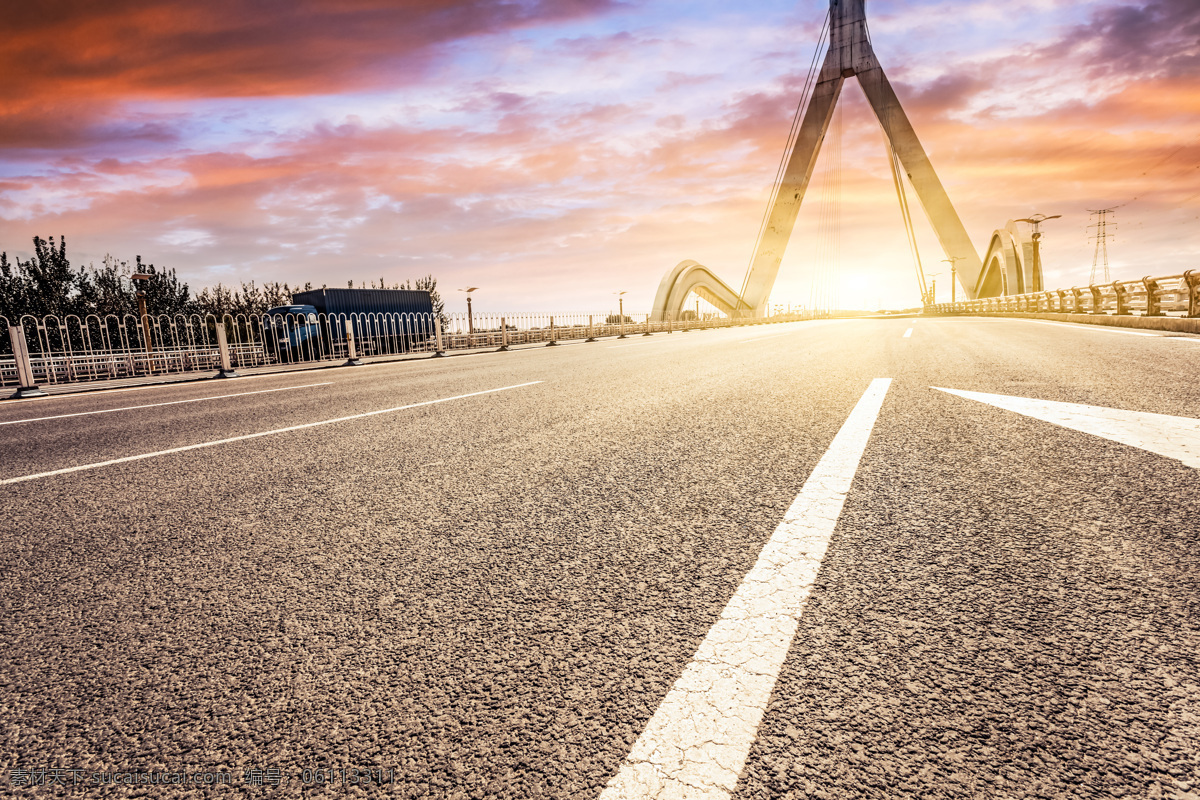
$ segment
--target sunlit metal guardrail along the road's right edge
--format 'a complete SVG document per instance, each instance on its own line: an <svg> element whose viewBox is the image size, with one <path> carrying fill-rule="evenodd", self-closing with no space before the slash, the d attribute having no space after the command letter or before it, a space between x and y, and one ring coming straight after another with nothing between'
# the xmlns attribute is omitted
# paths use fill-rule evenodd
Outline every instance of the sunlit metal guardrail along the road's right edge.
<svg viewBox="0 0 1200 800"><path fill-rule="evenodd" d="M1056 312L1200 317L1200 270L1188 270L1182 275L1158 278L1145 277L1140 281L1114 281L1084 288L936 303L930 309L941 314Z"/></svg>

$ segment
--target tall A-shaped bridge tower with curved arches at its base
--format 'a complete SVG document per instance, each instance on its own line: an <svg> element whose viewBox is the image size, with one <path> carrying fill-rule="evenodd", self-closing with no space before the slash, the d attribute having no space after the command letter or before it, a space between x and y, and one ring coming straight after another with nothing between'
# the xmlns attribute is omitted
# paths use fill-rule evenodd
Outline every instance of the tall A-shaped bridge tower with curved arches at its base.
<svg viewBox="0 0 1200 800"><path fill-rule="evenodd" d="M784 251L791 239L796 216L804 192L812 178L821 143L829 130L838 97L847 78L857 77L868 102L883 127L888 143L912 184L925 215L929 217L947 258L955 260L959 278L970 297L1004 294L1009 283L1040 284L1039 276L1026 275L1027 246L1021 234L998 230L989 248L988 275L984 261L971 243L958 211L950 204L934 166L920 146L908 116L900 107L892 84L888 83L866 31L865 0L830 0L829 49L817 76L812 95L804 110L799 133L787 158L787 166L757 243L745 282L739 295L708 267L696 261L680 261L667 272L654 300L654 317L678 318L689 294L696 294L722 312L736 317L757 317L766 311L770 290L779 275ZM1010 235L1002 235L1002 234ZM1015 241L1013 240L1015 236ZM995 254L992 249L1000 248ZM1008 255L1006 259L1004 255ZM1006 263L1007 261L1007 263ZM985 285L986 284L986 285ZM1013 287L1016 289L1016 285ZM1032 287L1031 287L1032 290Z"/></svg>

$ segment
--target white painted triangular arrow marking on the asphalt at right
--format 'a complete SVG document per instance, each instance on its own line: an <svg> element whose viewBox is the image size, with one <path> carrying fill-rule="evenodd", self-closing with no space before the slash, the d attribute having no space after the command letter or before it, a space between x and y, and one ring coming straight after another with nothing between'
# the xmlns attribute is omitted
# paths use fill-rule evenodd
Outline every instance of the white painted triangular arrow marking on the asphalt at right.
<svg viewBox="0 0 1200 800"><path fill-rule="evenodd" d="M1148 450L1200 469L1200 420L1189 416L1127 411L1103 405L1039 401L1010 395L965 392L938 386L930 389Z"/></svg>

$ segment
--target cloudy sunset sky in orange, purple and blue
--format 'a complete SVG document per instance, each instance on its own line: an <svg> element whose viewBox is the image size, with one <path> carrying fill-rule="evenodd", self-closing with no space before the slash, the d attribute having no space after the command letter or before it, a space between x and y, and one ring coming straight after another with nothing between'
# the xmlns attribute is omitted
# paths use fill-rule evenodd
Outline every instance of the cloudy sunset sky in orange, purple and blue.
<svg viewBox="0 0 1200 800"><path fill-rule="evenodd" d="M0 22L0 249L65 236L222 282L433 275L448 309L649 311L740 285L828 2L44 0ZM1200 269L1200 2L869 0L972 240L1032 213L1049 288ZM878 124L842 91L773 303L919 302ZM839 155L840 154L840 155ZM834 203L836 200L836 203ZM913 209L926 272L948 264ZM1110 228L1111 230L1111 228ZM948 275L938 278L948 299Z"/></svg>

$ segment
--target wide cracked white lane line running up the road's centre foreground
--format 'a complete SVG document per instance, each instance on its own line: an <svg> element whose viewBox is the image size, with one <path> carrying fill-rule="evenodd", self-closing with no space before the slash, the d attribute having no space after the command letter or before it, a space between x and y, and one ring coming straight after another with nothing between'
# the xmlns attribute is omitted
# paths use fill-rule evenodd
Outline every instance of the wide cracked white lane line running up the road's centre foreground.
<svg viewBox="0 0 1200 800"><path fill-rule="evenodd" d="M890 383L871 381L600 800L730 796Z"/></svg>

